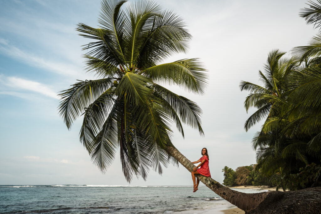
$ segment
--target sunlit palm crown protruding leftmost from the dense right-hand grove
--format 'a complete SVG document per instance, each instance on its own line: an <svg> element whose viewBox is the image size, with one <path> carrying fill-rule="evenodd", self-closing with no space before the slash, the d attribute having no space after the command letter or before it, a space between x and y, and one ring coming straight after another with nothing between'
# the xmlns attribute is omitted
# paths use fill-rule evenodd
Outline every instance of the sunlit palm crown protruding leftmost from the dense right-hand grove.
<svg viewBox="0 0 321 214"><path fill-rule="evenodd" d="M281 99L286 90L284 81L288 74L296 69L298 60L296 58L282 59L285 52L273 50L269 53L267 62L264 66L264 73L259 71L260 80L264 86L251 82L241 81L240 90L248 90L250 94L244 102L246 111L250 107L258 110L252 114L244 124L246 131L262 119L271 119L278 115L279 107L282 105Z"/></svg>

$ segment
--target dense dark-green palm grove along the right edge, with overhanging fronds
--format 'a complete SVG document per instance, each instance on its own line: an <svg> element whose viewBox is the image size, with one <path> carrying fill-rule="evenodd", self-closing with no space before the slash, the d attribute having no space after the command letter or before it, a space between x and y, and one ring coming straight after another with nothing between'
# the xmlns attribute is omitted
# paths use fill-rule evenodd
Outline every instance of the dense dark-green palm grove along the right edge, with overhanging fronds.
<svg viewBox="0 0 321 214"><path fill-rule="evenodd" d="M300 16L320 28L321 1L308 5ZM265 120L252 141L257 169L267 176L280 175L280 185L290 190L320 185L320 176L302 185L291 182L291 176L298 174L300 168L304 171L305 166L319 164L321 159L320 47L318 33L307 46L293 48L289 58L284 57L285 52L273 50L264 71L259 71L263 85L240 83L241 90L250 92L244 102L246 110L257 108L245 122L245 130ZM317 166L315 169L320 174Z"/></svg>

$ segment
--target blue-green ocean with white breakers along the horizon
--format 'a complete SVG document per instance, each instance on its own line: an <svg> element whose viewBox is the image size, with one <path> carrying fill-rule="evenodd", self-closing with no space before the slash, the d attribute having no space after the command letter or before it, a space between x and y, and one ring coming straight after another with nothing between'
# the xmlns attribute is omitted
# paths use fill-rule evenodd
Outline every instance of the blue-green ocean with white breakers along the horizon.
<svg viewBox="0 0 321 214"><path fill-rule="evenodd" d="M0 185L0 214L199 213L229 206L206 186L193 193L193 186Z"/></svg>

